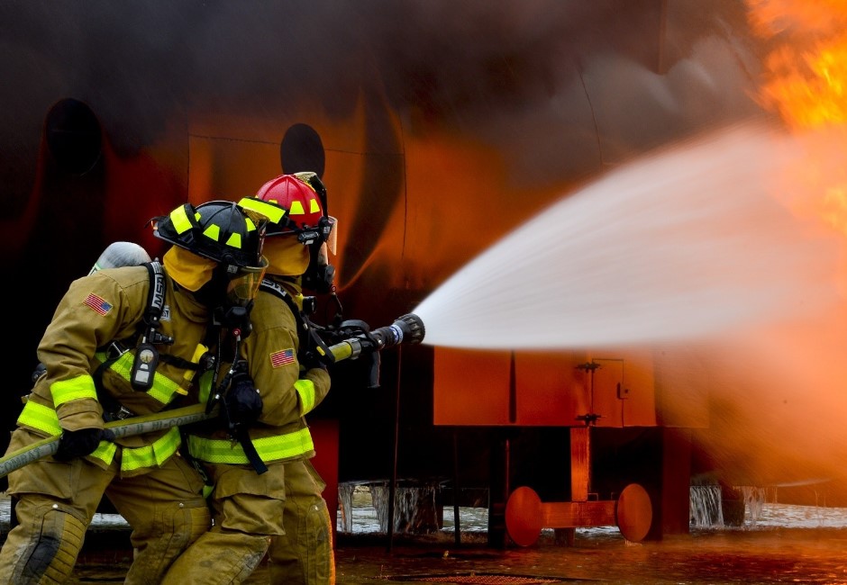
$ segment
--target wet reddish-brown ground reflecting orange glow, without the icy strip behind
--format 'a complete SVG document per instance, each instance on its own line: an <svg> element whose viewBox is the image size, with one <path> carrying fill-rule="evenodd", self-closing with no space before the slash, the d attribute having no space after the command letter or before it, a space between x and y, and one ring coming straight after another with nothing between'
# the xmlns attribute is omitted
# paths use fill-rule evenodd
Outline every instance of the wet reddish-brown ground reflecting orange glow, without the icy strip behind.
<svg viewBox="0 0 847 585"><path fill-rule="evenodd" d="M342 535L337 583L847 583L847 529L764 528L698 531L633 544L621 536L576 536L556 545L498 550L482 536ZM129 558L88 553L72 583L121 582ZM249 583L267 583L262 566Z"/></svg>

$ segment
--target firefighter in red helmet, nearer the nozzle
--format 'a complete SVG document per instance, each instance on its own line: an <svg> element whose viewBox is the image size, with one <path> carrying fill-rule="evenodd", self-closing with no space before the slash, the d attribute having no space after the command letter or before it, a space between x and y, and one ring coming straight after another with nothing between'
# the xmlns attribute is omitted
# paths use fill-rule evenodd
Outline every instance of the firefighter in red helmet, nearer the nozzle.
<svg viewBox="0 0 847 585"><path fill-rule="evenodd" d="M188 438L190 454L214 484L214 527L179 557L165 583L241 583L269 540L270 582L335 581L325 484L309 462L314 445L304 419L329 392L330 376L317 362L298 361L301 280L334 225L312 184L323 186L314 173L281 175L239 202L270 219L263 249L268 271L241 347L245 376L260 390L263 408L246 449L243 442L233 448L232 433L223 429Z"/></svg>

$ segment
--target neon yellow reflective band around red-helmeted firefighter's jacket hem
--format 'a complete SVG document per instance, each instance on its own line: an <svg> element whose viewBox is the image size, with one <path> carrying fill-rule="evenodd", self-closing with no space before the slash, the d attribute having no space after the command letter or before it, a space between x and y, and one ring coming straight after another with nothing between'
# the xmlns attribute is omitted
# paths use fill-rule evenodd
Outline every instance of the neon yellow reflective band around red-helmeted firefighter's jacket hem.
<svg viewBox="0 0 847 585"><path fill-rule="evenodd" d="M294 433L261 437L250 441L261 460L265 463L303 455L314 449L312 434L308 428L301 428ZM250 464L244 448L240 443L229 439L209 439L204 437L188 437L188 452L209 464Z"/></svg>

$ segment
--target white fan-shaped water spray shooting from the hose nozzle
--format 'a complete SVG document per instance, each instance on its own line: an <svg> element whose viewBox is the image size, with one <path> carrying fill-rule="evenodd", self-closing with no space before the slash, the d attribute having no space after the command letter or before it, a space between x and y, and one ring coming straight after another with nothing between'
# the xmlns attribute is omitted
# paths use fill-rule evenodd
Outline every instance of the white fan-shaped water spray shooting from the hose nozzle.
<svg viewBox="0 0 847 585"><path fill-rule="evenodd" d="M751 122L622 166L424 299L423 343L619 347L823 311L837 300L833 239L788 209L806 156Z"/></svg>

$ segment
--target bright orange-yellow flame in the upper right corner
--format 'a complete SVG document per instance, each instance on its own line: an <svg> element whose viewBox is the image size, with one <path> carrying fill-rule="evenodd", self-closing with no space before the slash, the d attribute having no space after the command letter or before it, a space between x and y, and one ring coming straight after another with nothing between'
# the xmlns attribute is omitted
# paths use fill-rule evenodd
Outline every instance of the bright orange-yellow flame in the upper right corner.
<svg viewBox="0 0 847 585"><path fill-rule="evenodd" d="M747 0L747 6L752 31L769 48L758 102L806 140L807 155L793 170L794 209L847 235L840 160L847 149L847 3Z"/></svg>

